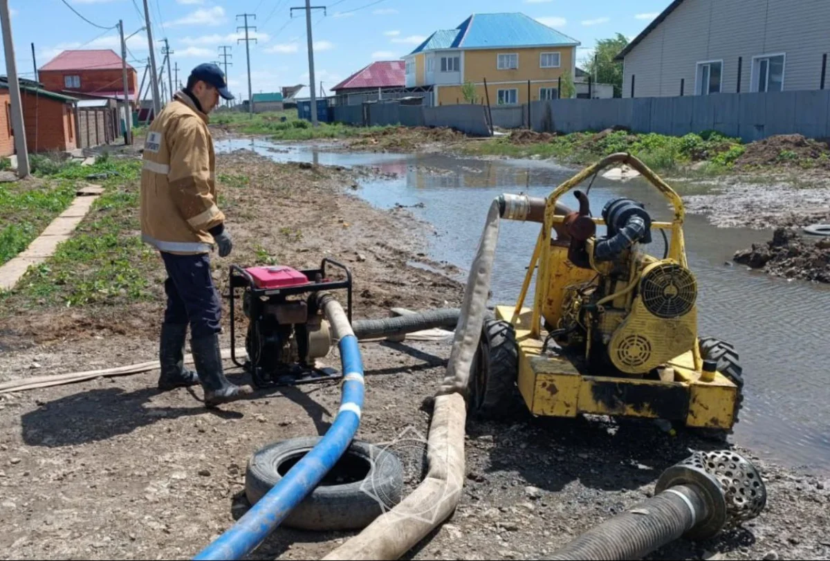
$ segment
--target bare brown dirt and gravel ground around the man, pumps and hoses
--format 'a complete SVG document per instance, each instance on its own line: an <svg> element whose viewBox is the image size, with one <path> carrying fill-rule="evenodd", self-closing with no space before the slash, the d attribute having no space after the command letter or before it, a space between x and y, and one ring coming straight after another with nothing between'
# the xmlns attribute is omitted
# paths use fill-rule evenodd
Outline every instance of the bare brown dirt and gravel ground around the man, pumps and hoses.
<svg viewBox="0 0 830 561"><path fill-rule="evenodd" d="M357 317L382 317L393 305L460 302L456 282L408 266L422 259L423 225L349 196L359 175L249 153L220 156L219 173L237 247L228 259L214 258L220 285L231 262L314 266L332 256L353 267ZM159 271L160 264L148 274L158 281ZM71 312L32 312L10 300L21 307L0 321L0 381L155 359L160 286L156 295ZM227 307L225 319L227 327ZM361 351L367 393L358 437L425 436L428 398L449 345L362 344ZM337 367L337 354L326 363ZM200 389L158 393L157 375L0 397L2 559L190 558L244 512L251 453L325 432L339 406L339 386L329 384L260 393L207 412ZM473 423L461 505L408 559L538 559L652 493L663 469L703 446L652 423ZM410 489L421 476L416 456L403 458ZM758 520L709 543L681 540L652 557L827 559L830 481L758 465L769 490ZM279 529L252 557L316 559L346 537Z"/></svg>

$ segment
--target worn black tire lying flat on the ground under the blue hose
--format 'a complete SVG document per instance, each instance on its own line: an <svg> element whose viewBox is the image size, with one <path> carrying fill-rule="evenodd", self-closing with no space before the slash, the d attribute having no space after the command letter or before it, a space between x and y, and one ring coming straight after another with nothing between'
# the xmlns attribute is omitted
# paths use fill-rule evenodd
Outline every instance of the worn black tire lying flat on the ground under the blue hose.
<svg viewBox="0 0 830 561"><path fill-rule="evenodd" d="M282 480L278 468L299 453L308 452L322 437L300 437L275 442L257 450L248 461L245 494L255 505ZM344 453L369 461L362 481L343 485L318 485L283 520L282 526L314 531L364 529L383 512L397 505L403 495L403 466L392 451L369 442L353 440ZM369 480L368 485L364 481ZM378 500L369 492L383 500Z"/></svg>

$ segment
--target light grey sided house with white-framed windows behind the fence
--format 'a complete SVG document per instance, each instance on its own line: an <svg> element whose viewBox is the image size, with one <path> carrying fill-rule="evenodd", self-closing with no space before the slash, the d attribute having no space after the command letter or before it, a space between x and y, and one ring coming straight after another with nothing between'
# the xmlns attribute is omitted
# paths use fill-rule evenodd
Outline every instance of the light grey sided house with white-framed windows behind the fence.
<svg viewBox="0 0 830 561"><path fill-rule="evenodd" d="M823 89L828 53L830 0L674 0L617 60L623 97L661 97Z"/></svg>

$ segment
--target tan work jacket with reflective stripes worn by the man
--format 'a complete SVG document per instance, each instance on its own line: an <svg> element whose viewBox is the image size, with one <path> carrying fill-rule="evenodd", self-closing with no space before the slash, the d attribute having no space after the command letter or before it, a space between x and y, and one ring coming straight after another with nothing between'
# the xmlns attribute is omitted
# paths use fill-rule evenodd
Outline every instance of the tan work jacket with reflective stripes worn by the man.
<svg viewBox="0 0 830 561"><path fill-rule="evenodd" d="M141 239L160 251L211 251L217 207L216 155L207 115L183 91L150 125L141 172Z"/></svg>

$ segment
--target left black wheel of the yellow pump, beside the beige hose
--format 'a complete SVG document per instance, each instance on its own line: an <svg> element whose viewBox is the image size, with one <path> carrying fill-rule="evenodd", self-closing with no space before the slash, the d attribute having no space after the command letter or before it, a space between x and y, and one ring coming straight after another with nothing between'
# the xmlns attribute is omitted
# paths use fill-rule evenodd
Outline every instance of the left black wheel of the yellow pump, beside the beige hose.
<svg viewBox="0 0 830 561"><path fill-rule="evenodd" d="M470 412L491 419L511 416L519 402L519 345L510 322L485 320L472 369Z"/></svg>

